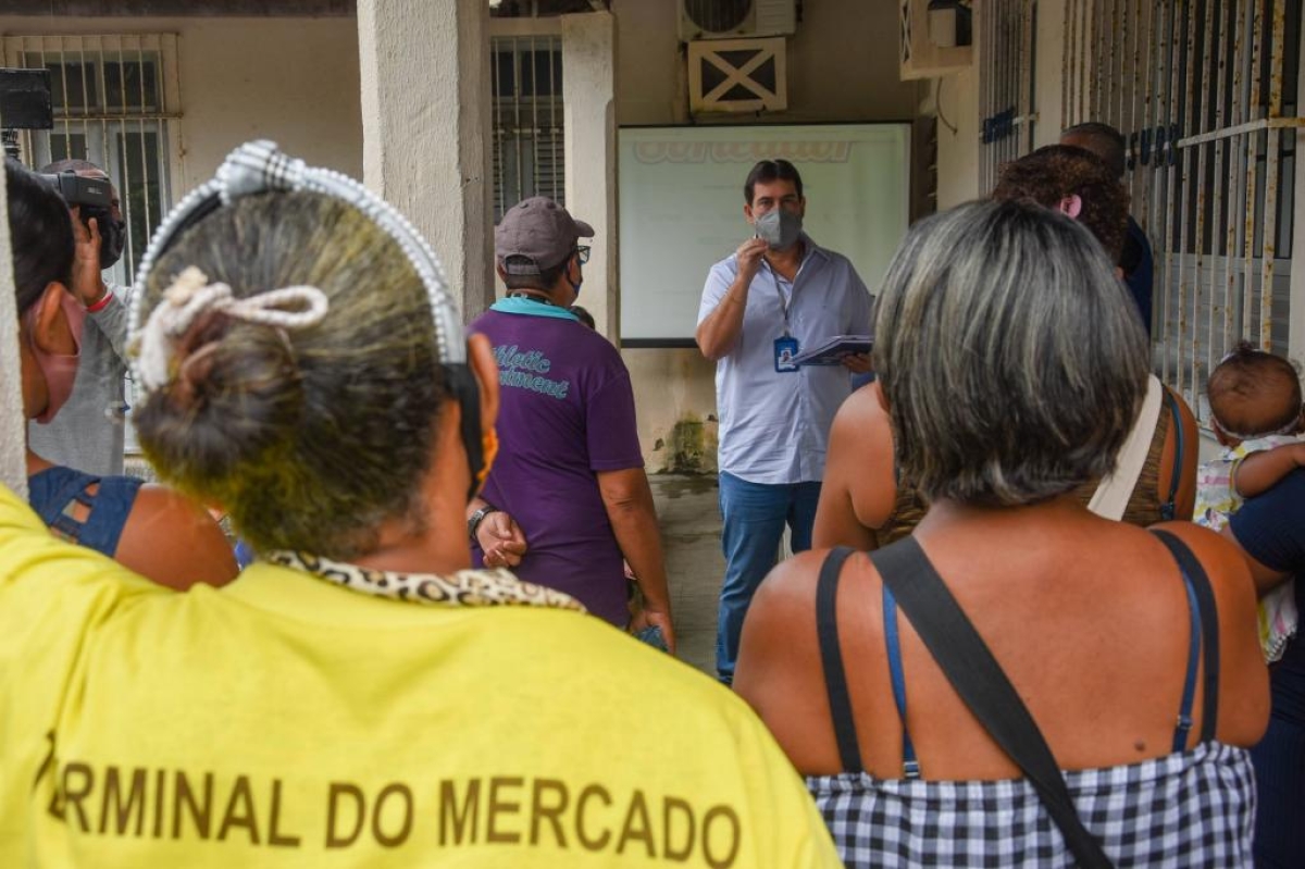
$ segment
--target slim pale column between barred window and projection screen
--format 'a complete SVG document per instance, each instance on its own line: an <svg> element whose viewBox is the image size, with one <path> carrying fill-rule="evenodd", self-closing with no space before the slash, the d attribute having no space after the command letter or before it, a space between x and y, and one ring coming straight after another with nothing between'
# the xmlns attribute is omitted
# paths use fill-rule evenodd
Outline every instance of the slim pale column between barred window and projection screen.
<svg viewBox="0 0 1305 869"><path fill-rule="evenodd" d="M562 16L566 210L592 224L579 304L598 330L620 338L616 240L616 21L609 12Z"/></svg>

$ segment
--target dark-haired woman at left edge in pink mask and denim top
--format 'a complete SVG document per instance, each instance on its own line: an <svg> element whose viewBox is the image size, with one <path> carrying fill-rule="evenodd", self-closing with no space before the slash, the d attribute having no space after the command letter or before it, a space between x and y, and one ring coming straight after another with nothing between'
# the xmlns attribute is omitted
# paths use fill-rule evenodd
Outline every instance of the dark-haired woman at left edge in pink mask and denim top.
<svg viewBox="0 0 1305 869"><path fill-rule="evenodd" d="M52 187L5 160L18 308L22 403L48 423L73 390L85 309L69 292L73 226ZM159 585L222 585L236 562L213 518L176 492L130 476L57 466L27 449L29 502L56 535L116 558Z"/></svg>

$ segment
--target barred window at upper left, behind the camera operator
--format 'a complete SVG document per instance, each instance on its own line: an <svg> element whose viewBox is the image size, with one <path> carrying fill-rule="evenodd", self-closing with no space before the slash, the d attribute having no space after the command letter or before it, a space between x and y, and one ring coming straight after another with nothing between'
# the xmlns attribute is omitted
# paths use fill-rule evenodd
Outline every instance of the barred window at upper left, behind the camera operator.
<svg viewBox="0 0 1305 869"><path fill-rule="evenodd" d="M176 35L7 37L4 60L50 70L55 128L23 137L27 162L39 168L90 160L117 187L127 244L112 278L130 283L172 201L170 121L180 117Z"/></svg>

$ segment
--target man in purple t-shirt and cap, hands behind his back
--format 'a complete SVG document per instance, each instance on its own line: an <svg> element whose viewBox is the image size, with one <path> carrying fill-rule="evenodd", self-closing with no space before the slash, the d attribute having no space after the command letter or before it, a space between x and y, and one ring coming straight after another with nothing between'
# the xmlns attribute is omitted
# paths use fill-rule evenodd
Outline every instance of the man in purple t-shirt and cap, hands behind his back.
<svg viewBox="0 0 1305 869"><path fill-rule="evenodd" d="M513 566L621 628L662 629L675 651L662 539L620 354L574 304L592 227L552 200L513 206L495 230L508 297L471 324L499 360L499 457L467 505L472 557ZM630 624L622 556L645 608Z"/></svg>

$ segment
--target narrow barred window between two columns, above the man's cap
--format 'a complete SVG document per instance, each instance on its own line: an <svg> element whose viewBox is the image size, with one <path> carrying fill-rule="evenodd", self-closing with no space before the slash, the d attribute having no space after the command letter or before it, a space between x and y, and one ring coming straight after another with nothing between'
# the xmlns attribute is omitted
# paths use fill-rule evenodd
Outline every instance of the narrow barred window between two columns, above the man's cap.
<svg viewBox="0 0 1305 869"><path fill-rule="evenodd" d="M493 37L495 222L531 196L565 205L560 37Z"/></svg>

